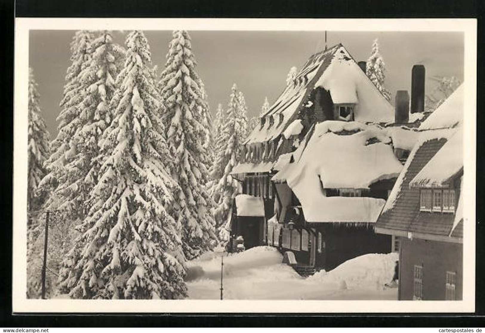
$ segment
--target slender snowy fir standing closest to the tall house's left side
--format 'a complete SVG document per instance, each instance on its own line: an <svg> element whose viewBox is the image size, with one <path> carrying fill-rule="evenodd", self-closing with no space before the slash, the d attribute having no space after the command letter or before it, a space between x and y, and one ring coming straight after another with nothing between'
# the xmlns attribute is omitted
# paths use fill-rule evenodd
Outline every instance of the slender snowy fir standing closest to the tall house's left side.
<svg viewBox="0 0 485 333"><path fill-rule="evenodd" d="M213 214L219 230L227 221L232 200L241 190L239 182L230 175L238 162L239 144L242 140L240 133L242 128L246 126L241 117L240 108L239 93L236 84L234 84L226 111L226 119L218 138L220 149L211 174L212 179L215 179L211 194L217 204Z"/></svg>

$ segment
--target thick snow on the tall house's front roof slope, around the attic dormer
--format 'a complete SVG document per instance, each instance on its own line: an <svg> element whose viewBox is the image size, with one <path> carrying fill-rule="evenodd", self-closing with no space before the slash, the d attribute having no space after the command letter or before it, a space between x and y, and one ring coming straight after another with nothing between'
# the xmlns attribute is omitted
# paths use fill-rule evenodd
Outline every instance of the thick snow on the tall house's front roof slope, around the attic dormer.
<svg viewBox="0 0 485 333"><path fill-rule="evenodd" d="M330 92L334 104L358 103L355 120L391 122L394 110L344 47L315 83Z"/></svg>

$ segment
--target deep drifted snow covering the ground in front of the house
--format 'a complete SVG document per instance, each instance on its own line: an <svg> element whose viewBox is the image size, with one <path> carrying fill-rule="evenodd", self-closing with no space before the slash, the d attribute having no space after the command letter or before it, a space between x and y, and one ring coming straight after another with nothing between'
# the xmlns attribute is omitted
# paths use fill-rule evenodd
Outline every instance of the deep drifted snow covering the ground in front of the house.
<svg viewBox="0 0 485 333"><path fill-rule="evenodd" d="M224 255L224 299L397 300L397 288L384 288L397 254L365 254L308 278L282 264L282 255L272 247ZM206 253L191 261L188 270L190 299L220 298L221 254Z"/></svg>

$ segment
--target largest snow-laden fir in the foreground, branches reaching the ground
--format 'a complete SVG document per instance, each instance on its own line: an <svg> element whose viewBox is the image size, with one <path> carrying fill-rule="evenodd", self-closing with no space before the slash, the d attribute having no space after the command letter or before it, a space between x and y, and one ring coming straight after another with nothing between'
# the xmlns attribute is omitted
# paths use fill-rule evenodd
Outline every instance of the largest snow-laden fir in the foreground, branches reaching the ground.
<svg viewBox="0 0 485 333"><path fill-rule="evenodd" d="M106 158L60 287L71 298L177 299L187 289L173 255L180 238L166 208L178 186L164 164L172 157L146 37L130 32L126 45L110 103L113 121L100 141Z"/></svg>

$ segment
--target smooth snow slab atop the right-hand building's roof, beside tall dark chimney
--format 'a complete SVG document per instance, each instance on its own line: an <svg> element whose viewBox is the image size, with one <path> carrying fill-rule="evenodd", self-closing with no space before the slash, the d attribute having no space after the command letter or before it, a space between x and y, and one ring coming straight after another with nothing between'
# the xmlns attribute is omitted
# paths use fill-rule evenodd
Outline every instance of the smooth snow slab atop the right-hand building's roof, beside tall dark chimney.
<svg viewBox="0 0 485 333"><path fill-rule="evenodd" d="M460 124L464 115L465 86L462 83L419 127L423 129L451 128Z"/></svg>

